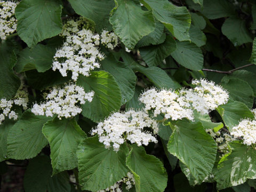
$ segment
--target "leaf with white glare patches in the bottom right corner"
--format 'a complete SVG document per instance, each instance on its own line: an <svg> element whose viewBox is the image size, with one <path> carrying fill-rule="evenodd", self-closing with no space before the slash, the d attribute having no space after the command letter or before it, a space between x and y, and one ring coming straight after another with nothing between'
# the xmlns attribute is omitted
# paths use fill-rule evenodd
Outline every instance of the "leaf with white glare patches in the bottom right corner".
<svg viewBox="0 0 256 192"><path fill-rule="evenodd" d="M214 177L218 189L225 189L244 183L247 179L256 179L256 150L238 141L229 143L231 154L220 159Z"/></svg>

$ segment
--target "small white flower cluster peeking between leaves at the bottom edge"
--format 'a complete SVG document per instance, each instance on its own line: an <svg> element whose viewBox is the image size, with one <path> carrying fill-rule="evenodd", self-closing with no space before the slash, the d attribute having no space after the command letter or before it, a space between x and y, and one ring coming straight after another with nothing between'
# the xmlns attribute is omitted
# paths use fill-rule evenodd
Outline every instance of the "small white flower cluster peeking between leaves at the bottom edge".
<svg viewBox="0 0 256 192"><path fill-rule="evenodd" d="M117 181L113 186L108 187L107 189L104 189L104 190L99 190L97 192L106 192L106 191L109 191L109 192L123 192L122 183L125 183L126 190L131 189L132 186L135 185L135 180L134 180L133 174L131 172L128 172L126 177Z"/></svg>

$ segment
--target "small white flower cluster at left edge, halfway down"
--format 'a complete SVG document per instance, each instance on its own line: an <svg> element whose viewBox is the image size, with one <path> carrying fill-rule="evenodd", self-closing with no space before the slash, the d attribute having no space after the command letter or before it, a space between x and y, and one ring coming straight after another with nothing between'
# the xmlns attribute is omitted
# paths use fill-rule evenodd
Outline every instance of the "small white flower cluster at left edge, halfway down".
<svg viewBox="0 0 256 192"><path fill-rule="evenodd" d="M0 100L0 125L4 121L5 117L9 117L9 119L16 120L18 118L17 113L14 110L11 110L13 104L17 106L22 106L24 110L27 109L28 103L28 93L24 90L18 90L14 99L6 100L5 98Z"/></svg>

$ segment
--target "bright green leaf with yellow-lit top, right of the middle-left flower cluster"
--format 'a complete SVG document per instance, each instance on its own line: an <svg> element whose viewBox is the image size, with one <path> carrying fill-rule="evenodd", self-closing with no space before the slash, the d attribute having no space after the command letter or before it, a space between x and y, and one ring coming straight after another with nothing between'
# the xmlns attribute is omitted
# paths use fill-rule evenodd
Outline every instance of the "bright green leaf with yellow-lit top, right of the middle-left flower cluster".
<svg viewBox="0 0 256 192"><path fill-rule="evenodd" d="M86 91L94 91L92 102L82 105L83 116L97 122L108 116L111 111L121 107L121 91L115 78L106 71L92 71L89 77L79 75L77 84Z"/></svg>

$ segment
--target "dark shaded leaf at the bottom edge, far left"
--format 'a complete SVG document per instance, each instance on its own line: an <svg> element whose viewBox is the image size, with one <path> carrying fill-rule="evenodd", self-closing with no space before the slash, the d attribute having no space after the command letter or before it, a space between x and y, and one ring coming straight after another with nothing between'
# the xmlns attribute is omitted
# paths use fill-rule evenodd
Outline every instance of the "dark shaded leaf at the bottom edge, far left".
<svg viewBox="0 0 256 192"><path fill-rule="evenodd" d="M37 156L29 161L24 175L24 189L26 192L45 192L49 178L51 178L51 161L48 156Z"/></svg>

